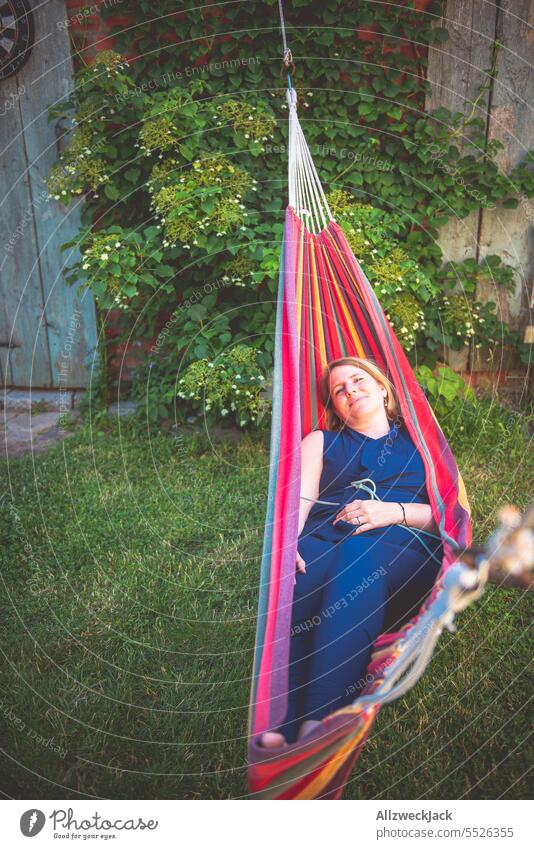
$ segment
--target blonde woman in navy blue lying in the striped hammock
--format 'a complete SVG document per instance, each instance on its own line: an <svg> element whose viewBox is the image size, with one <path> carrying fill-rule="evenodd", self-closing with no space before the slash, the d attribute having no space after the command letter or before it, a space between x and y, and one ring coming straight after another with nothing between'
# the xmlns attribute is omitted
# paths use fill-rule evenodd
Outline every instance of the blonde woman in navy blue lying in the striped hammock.
<svg viewBox="0 0 534 849"><path fill-rule="evenodd" d="M269 748L357 698L374 641L419 610L443 556L423 461L387 377L369 360L334 360L320 399L328 429L302 441L288 711L263 734Z"/></svg>

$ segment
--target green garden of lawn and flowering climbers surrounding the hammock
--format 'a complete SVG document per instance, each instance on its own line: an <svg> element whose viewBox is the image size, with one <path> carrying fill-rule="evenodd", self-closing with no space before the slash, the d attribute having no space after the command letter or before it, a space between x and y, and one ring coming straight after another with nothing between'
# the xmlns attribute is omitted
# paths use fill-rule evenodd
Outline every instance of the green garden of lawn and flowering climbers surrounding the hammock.
<svg viewBox="0 0 534 849"><path fill-rule="evenodd" d="M509 256L449 261L440 234L528 203L534 154L504 173L476 104L427 110L428 47L449 38L440 2L291 6L329 207L449 441L481 546L503 505L531 498L531 346L501 309ZM124 0L100 9L112 46L89 55L90 28L73 35L47 190L65 210L83 200L63 262L95 299L98 344L65 439L3 463L12 797L247 796L287 205L277 14L275 0L162 0L157 16ZM509 364L514 394L497 385ZM531 619L528 592L490 585L381 713L344 798L526 798Z"/></svg>

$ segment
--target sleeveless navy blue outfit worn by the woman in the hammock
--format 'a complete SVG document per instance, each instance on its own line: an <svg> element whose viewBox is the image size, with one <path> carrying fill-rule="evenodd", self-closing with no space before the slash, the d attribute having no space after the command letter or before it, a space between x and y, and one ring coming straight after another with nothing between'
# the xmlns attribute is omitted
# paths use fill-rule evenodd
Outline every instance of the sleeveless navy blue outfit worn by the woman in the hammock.
<svg viewBox="0 0 534 849"><path fill-rule="evenodd" d="M368 683L374 641L415 615L443 555L439 538L401 525L354 536L355 525L332 524L343 505L373 494L382 501L429 503L423 461L407 430L395 423L378 439L348 426L323 434L319 501L298 541L306 574L296 573L281 729L290 742L304 720L322 719L357 698Z"/></svg>

